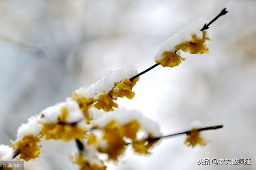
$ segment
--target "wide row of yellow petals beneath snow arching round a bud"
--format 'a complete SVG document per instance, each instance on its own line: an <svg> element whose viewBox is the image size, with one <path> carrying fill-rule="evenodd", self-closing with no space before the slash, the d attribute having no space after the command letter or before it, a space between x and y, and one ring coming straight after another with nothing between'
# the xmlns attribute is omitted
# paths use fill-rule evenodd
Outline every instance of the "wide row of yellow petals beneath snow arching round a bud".
<svg viewBox="0 0 256 170"><path fill-rule="evenodd" d="M87 131L86 129L78 127L76 123L44 123L42 121L38 123L43 125L40 131L40 138L44 137L46 140L62 139L63 141L70 141L71 139L83 139Z"/></svg>

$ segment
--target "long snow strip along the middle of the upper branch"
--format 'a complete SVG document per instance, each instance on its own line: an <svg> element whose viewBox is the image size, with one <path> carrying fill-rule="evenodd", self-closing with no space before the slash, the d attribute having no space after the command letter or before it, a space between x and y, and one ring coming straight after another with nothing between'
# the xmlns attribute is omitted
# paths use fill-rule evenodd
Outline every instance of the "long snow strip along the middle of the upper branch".
<svg viewBox="0 0 256 170"><path fill-rule="evenodd" d="M89 87L82 87L75 92L79 97L98 99L100 94L110 92L115 82L132 78L136 74L138 74L137 68L133 65L128 65L118 70L110 71L94 84L91 84Z"/></svg>

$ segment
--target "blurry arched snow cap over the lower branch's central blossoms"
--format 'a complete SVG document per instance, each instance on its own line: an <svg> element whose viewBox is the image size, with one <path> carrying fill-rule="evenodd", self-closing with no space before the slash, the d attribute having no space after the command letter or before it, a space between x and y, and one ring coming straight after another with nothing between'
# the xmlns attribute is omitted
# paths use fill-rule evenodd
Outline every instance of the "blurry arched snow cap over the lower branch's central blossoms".
<svg viewBox="0 0 256 170"><path fill-rule="evenodd" d="M142 113L133 109L128 110L117 108L111 113L103 114L98 119L96 119L95 125L98 125L99 127L103 128L106 126L107 123L109 123L112 120L115 120L116 122L120 123L120 125L125 125L126 123L129 123L134 119L138 121L140 126L147 133L152 134L155 137L161 136L160 127L156 122L144 117Z"/></svg>

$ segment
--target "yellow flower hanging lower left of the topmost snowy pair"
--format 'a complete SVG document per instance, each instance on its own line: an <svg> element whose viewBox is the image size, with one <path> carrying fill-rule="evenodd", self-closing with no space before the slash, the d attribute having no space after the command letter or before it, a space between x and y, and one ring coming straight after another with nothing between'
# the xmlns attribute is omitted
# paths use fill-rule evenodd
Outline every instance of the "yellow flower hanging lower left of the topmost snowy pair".
<svg viewBox="0 0 256 170"><path fill-rule="evenodd" d="M174 66L178 66L181 61L185 61L185 58L182 58L180 55L177 55L174 52L170 52L170 51L164 51L164 53L162 54L163 57L160 61L156 61L156 64L161 64L163 67L174 67Z"/></svg>

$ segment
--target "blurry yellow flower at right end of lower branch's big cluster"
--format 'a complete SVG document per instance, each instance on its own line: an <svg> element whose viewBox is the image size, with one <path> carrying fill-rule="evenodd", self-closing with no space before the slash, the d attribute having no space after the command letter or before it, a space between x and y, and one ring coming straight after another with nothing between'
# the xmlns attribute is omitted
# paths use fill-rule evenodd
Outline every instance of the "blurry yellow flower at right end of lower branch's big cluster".
<svg viewBox="0 0 256 170"><path fill-rule="evenodd" d="M148 139L133 142L132 147L138 153L149 154L150 152L148 152L148 150L151 149L152 146L159 141L159 139L155 139L152 137L152 135L149 135Z"/></svg>

